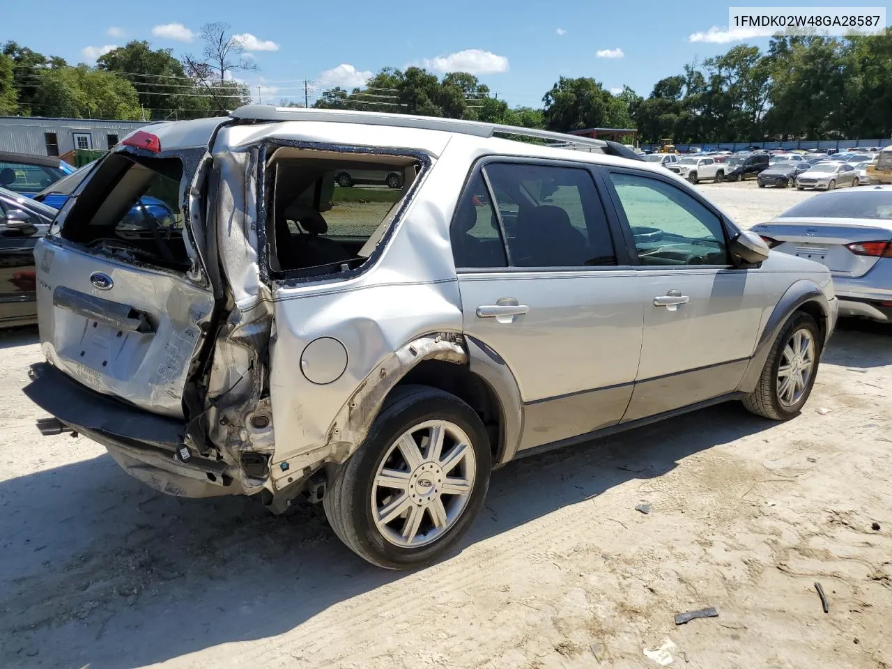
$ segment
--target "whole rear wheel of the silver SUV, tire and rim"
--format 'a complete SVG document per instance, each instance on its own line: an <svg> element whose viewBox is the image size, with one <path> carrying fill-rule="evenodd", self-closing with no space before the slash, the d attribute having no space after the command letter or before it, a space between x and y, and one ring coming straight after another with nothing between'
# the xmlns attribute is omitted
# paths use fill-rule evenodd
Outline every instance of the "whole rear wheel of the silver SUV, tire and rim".
<svg viewBox="0 0 892 669"><path fill-rule="evenodd" d="M441 558L483 507L491 471L480 417L455 395L398 387L341 465L324 506L359 557L387 569Z"/></svg>

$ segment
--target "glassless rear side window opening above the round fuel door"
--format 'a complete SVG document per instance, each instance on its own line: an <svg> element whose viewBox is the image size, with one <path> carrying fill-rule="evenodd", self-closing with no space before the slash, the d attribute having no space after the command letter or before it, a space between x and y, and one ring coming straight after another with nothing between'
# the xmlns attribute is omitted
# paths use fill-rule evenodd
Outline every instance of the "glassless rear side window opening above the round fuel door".
<svg viewBox="0 0 892 669"><path fill-rule="evenodd" d="M419 171L411 156L277 149L266 173L271 276L362 267Z"/></svg>

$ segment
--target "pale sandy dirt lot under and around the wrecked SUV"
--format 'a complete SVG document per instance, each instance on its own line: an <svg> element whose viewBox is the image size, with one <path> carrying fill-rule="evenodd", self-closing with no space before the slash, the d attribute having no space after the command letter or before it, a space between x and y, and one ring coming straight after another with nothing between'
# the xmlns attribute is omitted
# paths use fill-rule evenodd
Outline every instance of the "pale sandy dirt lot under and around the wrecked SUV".
<svg viewBox="0 0 892 669"><path fill-rule="evenodd" d="M804 195L700 187L747 225ZM788 423L729 404L509 464L408 574L320 508L165 497L41 437L38 359L35 330L0 335L0 666L657 667L669 640L690 669L892 667L889 328L841 324Z"/></svg>

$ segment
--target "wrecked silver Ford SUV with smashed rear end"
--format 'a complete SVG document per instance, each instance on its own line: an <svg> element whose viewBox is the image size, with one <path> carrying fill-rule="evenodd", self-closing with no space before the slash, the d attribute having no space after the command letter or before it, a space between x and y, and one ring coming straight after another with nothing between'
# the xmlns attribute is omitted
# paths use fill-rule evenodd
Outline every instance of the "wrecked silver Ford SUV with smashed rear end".
<svg viewBox="0 0 892 669"><path fill-rule="evenodd" d="M795 416L829 270L625 155L347 111L149 126L37 247L25 392L160 491L322 500L390 568L455 544L512 458L720 401ZM401 189L335 187L357 169ZM172 224L124 225L146 196Z"/></svg>

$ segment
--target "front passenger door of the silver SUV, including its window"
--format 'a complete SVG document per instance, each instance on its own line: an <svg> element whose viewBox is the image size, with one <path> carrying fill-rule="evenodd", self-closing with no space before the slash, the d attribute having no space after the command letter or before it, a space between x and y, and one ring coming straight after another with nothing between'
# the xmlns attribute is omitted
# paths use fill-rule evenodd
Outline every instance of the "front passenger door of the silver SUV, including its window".
<svg viewBox="0 0 892 669"><path fill-rule="evenodd" d="M637 253L644 335L624 422L734 391L762 318L758 269L731 266L721 217L667 178L609 169Z"/></svg>

